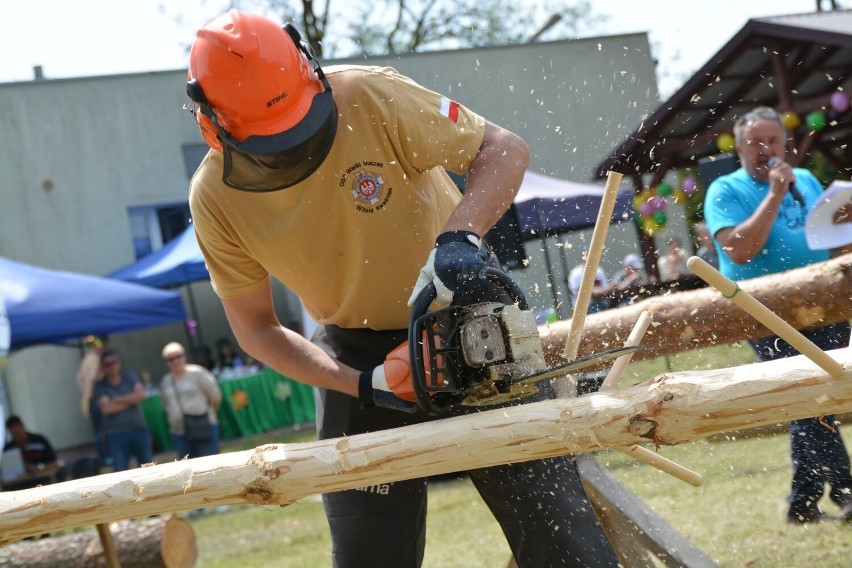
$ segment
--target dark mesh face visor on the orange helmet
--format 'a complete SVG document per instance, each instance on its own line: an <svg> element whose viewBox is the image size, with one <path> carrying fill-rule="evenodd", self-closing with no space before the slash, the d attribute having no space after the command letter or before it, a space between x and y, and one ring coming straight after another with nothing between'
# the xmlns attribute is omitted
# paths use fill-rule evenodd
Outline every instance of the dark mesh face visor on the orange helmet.
<svg viewBox="0 0 852 568"><path fill-rule="evenodd" d="M217 125L218 126L218 125ZM337 132L331 90L316 95L299 123L279 134L239 142L219 128L225 168L222 181L242 191L278 191L314 173L328 156Z"/></svg>

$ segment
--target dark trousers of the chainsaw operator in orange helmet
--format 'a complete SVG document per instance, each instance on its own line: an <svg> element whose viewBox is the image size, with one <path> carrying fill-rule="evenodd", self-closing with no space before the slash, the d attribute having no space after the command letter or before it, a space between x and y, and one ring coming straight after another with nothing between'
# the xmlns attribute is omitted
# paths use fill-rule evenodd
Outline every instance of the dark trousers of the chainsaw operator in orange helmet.
<svg viewBox="0 0 852 568"><path fill-rule="evenodd" d="M313 341L356 369L372 369L407 339L406 330L318 328ZM548 396L542 393L541 399ZM529 401L530 399L526 399ZM476 412L477 410L472 410ZM395 428L432 417L383 408L319 390L321 439ZM503 529L521 568L617 566L570 456L468 471ZM323 495L336 568L418 567L426 544L426 480ZM475 545L475 543L471 543Z"/></svg>

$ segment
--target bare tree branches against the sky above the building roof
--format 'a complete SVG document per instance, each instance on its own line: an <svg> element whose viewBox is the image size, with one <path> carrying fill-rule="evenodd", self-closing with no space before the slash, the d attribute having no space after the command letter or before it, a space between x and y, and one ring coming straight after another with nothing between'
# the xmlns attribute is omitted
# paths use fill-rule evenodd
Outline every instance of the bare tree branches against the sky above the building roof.
<svg viewBox="0 0 852 568"><path fill-rule="evenodd" d="M234 0L231 5L294 22L314 52L325 57L576 37L601 21L587 0L346 0L334 5L331 0Z"/></svg>

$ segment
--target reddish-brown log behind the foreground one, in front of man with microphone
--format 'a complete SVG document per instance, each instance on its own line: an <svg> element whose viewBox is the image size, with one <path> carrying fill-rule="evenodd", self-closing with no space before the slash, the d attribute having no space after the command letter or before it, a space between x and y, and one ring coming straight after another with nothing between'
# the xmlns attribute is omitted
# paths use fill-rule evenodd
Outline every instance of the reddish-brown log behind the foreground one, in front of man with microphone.
<svg viewBox="0 0 852 568"><path fill-rule="evenodd" d="M740 288L798 330L852 318L852 254L819 264L740 282ZM771 332L726 300L714 288L654 296L630 306L586 316L578 357L620 347L639 314L653 324L636 359L648 359L718 344L731 344ZM546 357L562 362L571 322L540 328Z"/></svg>

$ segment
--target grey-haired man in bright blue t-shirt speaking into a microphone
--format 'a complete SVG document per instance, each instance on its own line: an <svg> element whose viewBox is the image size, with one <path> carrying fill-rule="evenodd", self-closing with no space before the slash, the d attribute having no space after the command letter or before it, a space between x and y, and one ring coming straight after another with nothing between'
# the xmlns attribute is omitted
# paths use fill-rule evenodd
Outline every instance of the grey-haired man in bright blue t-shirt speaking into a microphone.
<svg viewBox="0 0 852 568"><path fill-rule="evenodd" d="M811 250L805 239L805 217L822 185L808 170L784 161L787 132L780 115L758 107L737 119L734 138L742 167L714 180L704 200L719 271L746 280L828 260L829 251ZM850 328L843 322L803 333L821 349L837 349L848 345ZM798 355L776 336L750 343L761 361ZM825 417L825 423L833 421ZM790 434L793 482L787 520L823 518L817 503L828 483L831 500L852 521L852 476L840 431L808 418L793 421Z"/></svg>

